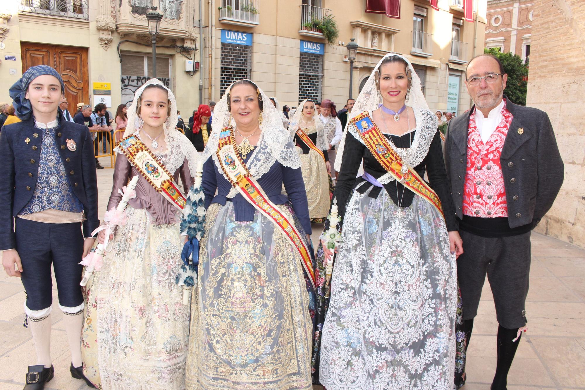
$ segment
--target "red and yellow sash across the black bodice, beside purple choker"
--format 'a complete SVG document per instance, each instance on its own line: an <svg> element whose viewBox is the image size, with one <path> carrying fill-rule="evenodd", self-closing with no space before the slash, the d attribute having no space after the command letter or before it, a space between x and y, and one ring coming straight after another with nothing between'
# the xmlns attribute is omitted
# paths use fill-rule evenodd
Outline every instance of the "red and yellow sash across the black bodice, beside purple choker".
<svg viewBox="0 0 585 390"><path fill-rule="evenodd" d="M407 189L431 203L442 217L445 218L441 200L439 200L435 191L422 180L417 171L412 169L412 167L408 167L407 172L402 175L401 170L402 166L404 166L402 159L394 152L394 149L388 143L388 139L382 135L378 126L371 120L370 115L367 112L362 112L362 114L353 118L350 123L356 126L362 141L366 144L366 147L374 155L376 160L378 160L378 163L390 172L394 176L394 179L407 187Z"/></svg>

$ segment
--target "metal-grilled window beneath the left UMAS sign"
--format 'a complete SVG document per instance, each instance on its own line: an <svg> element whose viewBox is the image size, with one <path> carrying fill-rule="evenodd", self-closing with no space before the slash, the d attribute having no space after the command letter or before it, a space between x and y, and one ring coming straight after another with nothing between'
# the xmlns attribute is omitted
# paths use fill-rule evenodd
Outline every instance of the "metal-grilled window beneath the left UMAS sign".
<svg viewBox="0 0 585 390"><path fill-rule="evenodd" d="M235 81L250 78L252 46L221 44L220 95Z"/></svg>

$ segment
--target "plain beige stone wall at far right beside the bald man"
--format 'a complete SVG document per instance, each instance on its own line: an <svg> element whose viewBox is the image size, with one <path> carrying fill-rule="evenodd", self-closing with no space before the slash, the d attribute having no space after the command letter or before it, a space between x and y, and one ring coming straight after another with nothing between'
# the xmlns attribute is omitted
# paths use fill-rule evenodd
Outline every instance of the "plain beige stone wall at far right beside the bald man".
<svg viewBox="0 0 585 390"><path fill-rule="evenodd" d="M585 2L535 1L526 105L548 113L565 182L536 231L585 247Z"/></svg>

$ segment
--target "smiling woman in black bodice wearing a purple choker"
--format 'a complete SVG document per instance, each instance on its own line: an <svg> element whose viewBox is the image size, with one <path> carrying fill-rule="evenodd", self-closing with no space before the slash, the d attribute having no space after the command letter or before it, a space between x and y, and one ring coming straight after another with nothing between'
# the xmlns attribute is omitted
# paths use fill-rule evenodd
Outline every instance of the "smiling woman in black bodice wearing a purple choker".
<svg viewBox="0 0 585 390"><path fill-rule="evenodd" d="M318 368L328 390L453 388L463 249L437 125L411 63L388 53L335 162L342 238Z"/></svg>

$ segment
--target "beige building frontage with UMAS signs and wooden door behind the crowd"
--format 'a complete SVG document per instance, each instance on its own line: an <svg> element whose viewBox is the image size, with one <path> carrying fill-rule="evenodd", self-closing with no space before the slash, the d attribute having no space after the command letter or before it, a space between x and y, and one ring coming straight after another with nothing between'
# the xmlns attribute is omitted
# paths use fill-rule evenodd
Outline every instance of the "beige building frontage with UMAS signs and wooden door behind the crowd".
<svg viewBox="0 0 585 390"><path fill-rule="evenodd" d="M339 110L349 96L345 45L352 37L359 45L354 98L393 51L414 64L431 110L459 114L471 104L463 72L484 47L486 1L474 1L472 23L463 21L460 0L439 0L439 11L426 0L402 0L400 19L364 12L366 0L4 0L0 101L9 101L23 70L47 63L66 75L72 114L81 101L115 111L152 76L145 15L157 6L164 14L157 77L176 94L184 118L245 77L281 104L329 98ZM311 26L328 16L338 28L332 43Z"/></svg>

